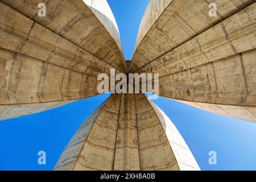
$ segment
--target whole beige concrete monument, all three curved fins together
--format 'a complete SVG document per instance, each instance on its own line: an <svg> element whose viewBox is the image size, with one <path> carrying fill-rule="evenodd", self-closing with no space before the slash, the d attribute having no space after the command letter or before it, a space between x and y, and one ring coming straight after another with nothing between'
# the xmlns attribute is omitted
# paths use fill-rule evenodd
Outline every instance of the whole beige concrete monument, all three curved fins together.
<svg viewBox="0 0 256 182"><path fill-rule="evenodd" d="M151 0L128 64L106 0L0 0L0 10L0 120L96 96L98 75L115 69L158 73L160 96L256 122L255 0ZM198 169L170 119L143 94L113 94L55 166Z"/></svg>

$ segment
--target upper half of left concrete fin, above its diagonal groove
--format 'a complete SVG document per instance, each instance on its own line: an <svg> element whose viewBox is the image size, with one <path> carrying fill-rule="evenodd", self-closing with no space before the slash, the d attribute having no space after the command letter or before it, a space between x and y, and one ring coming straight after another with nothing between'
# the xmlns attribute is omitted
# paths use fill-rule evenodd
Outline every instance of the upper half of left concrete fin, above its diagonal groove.
<svg viewBox="0 0 256 182"><path fill-rule="evenodd" d="M127 72L117 24L106 0L44 0L46 17L37 15L40 0L0 2L119 71Z"/></svg>

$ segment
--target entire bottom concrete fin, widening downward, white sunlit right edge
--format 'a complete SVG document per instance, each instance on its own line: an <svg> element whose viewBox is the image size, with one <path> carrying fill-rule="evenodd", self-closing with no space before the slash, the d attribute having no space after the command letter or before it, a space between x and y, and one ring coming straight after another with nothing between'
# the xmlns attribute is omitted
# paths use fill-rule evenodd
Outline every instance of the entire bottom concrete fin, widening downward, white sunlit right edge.
<svg viewBox="0 0 256 182"><path fill-rule="evenodd" d="M170 119L143 94L114 94L80 127L55 170L199 170Z"/></svg>

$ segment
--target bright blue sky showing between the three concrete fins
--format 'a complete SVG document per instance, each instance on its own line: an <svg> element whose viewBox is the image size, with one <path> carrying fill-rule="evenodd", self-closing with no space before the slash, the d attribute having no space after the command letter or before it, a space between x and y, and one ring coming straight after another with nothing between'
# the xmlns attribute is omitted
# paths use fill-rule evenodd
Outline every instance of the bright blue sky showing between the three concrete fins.
<svg viewBox="0 0 256 182"><path fill-rule="evenodd" d="M109 0L130 60L139 24L149 0ZM0 170L51 170L72 135L97 106L103 94L57 109L0 121ZM154 101L174 122L202 170L255 170L256 124L208 113L159 97ZM47 164L38 164L38 151L46 151ZM209 151L217 152L217 165L209 165Z"/></svg>

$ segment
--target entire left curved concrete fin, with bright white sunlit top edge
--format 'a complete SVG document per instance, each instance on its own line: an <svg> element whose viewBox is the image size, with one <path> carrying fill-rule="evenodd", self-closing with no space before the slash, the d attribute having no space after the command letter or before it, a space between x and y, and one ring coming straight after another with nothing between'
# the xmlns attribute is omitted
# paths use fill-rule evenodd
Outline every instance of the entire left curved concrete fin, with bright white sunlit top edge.
<svg viewBox="0 0 256 182"><path fill-rule="evenodd" d="M3 0L0 10L0 119L95 96L99 73L126 72L106 1Z"/></svg>

